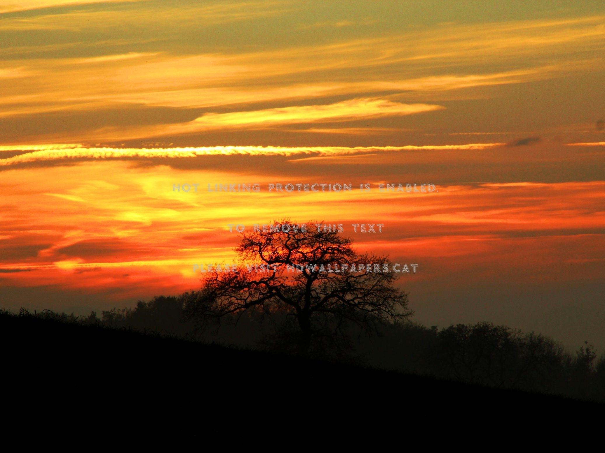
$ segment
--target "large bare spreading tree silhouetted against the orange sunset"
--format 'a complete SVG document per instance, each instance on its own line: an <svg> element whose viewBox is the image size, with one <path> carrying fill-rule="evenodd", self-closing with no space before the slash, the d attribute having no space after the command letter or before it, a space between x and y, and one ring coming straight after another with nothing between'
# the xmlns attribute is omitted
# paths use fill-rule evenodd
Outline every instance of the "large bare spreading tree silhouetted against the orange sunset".
<svg viewBox="0 0 605 453"><path fill-rule="evenodd" d="M274 225L291 223L283 219ZM208 272L200 291L183 295L188 315L203 321L249 310L287 313L296 320L301 353L318 341L342 335L345 325L372 330L381 322L411 315L407 294L394 286L398 274L382 272L383 263L390 266L387 256L360 254L352 240L313 225L306 231L243 233L235 249L238 265ZM374 272L374 264L381 272ZM364 265L361 271L359 265Z"/></svg>

